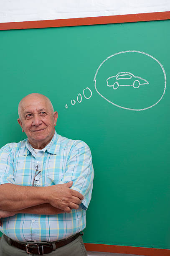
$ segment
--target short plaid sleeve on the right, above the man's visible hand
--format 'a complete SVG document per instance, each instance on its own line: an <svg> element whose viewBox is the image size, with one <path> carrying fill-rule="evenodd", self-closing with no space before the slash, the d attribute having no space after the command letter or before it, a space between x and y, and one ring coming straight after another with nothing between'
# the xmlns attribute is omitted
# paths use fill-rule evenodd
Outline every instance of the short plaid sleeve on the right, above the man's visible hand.
<svg viewBox="0 0 170 256"><path fill-rule="evenodd" d="M70 151L66 172L59 184L73 181L71 189L80 192L84 196L81 208L87 210L93 189L94 169L89 146L83 141L79 141Z"/></svg>

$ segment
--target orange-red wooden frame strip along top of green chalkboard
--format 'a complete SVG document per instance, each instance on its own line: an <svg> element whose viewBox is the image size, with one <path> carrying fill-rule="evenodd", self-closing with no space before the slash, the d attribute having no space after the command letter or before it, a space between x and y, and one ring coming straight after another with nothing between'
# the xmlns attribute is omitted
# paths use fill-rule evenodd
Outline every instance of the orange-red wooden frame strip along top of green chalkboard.
<svg viewBox="0 0 170 256"><path fill-rule="evenodd" d="M0 30L86 26L86 25L150 21L150 20L170 20L170 11L157 12L157 13L137 13L137 14L112 15L112 16L87 17L87 18L58 19L58 20L5 22L5 23L0 23Z"/></svg>

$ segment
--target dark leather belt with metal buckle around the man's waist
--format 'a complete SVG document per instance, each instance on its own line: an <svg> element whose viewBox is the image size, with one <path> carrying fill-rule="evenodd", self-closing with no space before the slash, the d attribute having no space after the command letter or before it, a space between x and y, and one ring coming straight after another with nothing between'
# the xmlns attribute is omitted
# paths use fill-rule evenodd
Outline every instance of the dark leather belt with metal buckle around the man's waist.
<svg viewBox="0 0 170 256"><path fill-rule="evenodd" d="M68 243L71 243L74 241L78 236L80 236L80 232L77 233L75 236L63 239L61 241L55 241L52 243L47 243L47 242L28 242L27 244L24 243L18 243L16 241L13 241L11 238L8 238L10 241L10 244L26 251L28 254L47 254L51 253L52 251L55 251L57 248L60 248L61 246L65 246Z"/></svg>

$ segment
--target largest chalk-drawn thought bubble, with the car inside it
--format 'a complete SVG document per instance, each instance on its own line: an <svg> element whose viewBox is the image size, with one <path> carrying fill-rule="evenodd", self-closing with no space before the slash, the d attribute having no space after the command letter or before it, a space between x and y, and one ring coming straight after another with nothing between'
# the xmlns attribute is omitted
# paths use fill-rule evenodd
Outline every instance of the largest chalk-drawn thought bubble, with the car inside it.
<svg viewBox="0 0 170 256"><path fill-rule="evenodd" d="M162 100L166 73L160 61L150 54L121 51L99 65L94 87L112 105L126 110L147 110Z"/></svg>

